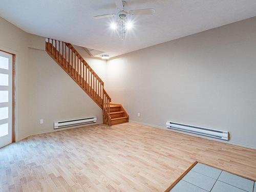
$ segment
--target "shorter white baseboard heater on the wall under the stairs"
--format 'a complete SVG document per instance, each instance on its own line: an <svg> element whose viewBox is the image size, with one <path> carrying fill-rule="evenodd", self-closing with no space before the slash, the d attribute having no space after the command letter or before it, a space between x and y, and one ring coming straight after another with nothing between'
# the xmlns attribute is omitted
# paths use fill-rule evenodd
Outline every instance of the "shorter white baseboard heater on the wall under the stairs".
<svg viewBox="0 0 256 192"><path fill-rule="evenodd" d="M82 119L72 119L72 120L65 120L65 121L58 121L53 123L54 129L59 129L62 127L67 126L76 126L76 125L82 125L82 124L88 124L88 123L96 123L97 117L87 117Z"/></svg>

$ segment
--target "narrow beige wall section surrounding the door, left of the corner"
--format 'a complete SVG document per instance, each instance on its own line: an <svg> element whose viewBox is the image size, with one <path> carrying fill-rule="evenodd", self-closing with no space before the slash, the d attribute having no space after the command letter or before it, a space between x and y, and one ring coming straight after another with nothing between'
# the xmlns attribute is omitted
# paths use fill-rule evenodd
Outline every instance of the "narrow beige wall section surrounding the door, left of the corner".
<svg viewBox="0 0 256 192"><path fill-rule="evenodd" d="M16 138L28 130L28 35L0 17L0 50L16 54Z"/></svg>

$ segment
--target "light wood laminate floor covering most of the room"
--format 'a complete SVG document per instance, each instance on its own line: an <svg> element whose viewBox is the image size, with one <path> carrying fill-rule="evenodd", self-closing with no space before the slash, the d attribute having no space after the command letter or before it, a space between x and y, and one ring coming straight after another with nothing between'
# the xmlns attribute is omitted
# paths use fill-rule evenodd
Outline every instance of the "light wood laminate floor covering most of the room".
<svg viewBox="0 0 256 192"><path fill-rule="evenodd" d="M256 179L256 150L135 123L31 136L0 149L0 191L164 191L200 161Z"/></svg>

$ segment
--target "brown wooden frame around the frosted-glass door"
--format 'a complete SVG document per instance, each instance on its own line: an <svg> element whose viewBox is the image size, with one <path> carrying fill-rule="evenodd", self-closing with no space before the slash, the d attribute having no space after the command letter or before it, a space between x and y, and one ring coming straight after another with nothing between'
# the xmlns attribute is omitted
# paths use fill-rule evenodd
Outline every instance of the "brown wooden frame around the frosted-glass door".
<svg viewBox="0 0 256 192"><path fill-rule="evenodd" d="M16 55L8 51L1 50L2 52L12 55L12 143L16 142Z"/></svg>

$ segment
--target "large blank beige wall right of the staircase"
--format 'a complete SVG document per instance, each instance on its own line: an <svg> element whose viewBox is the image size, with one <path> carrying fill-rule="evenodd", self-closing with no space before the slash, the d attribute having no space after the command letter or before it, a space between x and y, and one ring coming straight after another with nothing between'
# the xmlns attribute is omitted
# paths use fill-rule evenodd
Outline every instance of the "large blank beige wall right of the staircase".
<svg viewBox="0 0 256 192"><path fill-rule="evenodd" d="M111 59L107 75L130 120L226 130L256 147L256 17Z"/></svg>

